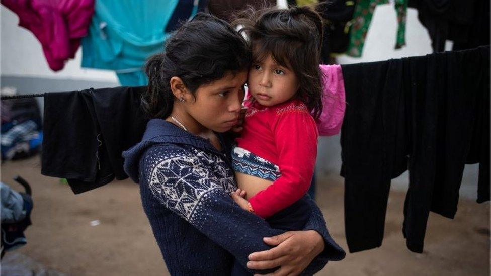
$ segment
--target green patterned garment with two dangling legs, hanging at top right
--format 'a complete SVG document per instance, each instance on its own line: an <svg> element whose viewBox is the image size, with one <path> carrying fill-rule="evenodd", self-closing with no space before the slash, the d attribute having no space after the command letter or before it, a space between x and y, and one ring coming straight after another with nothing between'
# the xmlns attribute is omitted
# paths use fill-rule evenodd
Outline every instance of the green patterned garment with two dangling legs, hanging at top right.
<svg viewBox="0 0 491 276"><path fill-rule="evenodd" d="M395 0L395 11L397 13L397 38L395 49L399 49L406 44L406 13L408 0ZM365 44L370 22L372 21L375 7L379 4L388 4L389 0L360 0L356 4L353 19L348 22L347 27L351 27L350 44L347 54L354 57L360 57Z"/></svg>

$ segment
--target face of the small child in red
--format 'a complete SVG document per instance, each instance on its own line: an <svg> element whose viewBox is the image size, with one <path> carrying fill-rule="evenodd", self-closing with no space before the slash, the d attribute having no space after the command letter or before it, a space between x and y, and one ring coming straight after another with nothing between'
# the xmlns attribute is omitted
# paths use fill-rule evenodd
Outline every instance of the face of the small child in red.
<svg viewBox="0 0 491 276"><path fill-rule="evenodd" d="M254 62L249 70L249 93L263 106L270 107L292 99L298 86L295 73L274 62L271 54Z"/></svg>

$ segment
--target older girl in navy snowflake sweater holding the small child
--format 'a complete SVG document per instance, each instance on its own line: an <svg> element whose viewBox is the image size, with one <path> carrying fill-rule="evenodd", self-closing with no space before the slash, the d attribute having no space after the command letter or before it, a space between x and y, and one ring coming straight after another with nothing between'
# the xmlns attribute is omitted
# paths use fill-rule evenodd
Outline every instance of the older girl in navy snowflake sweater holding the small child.
<svg viewBox="0 0 491 276"><path fill-rule="evenodd" d="M229 197L237 186L221 133L237 123L249 65L242 36L205 14L185 23L168 38L166 52L148 61L143 103L153 119L123 156L173 275L227 275L234 259L252 269L280 265L279 275L313 274L328 259L344 257L312 201L303 231L283 233Z"/></svg>

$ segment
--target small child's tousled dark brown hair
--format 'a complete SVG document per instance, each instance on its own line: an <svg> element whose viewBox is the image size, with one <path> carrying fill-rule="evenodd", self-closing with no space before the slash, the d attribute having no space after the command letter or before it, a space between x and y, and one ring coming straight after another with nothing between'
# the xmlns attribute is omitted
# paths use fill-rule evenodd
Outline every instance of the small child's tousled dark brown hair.
<svg viewBox="0 0 491 276"><path fill-rule="evenodd" d="M269 53L275 62L293 70L299 80L296 97L318 118L322 112L320 48L322 19L308 6L255 10L252 7L235 15L232 26L245 33L253 53L260 61Z"/></svg>

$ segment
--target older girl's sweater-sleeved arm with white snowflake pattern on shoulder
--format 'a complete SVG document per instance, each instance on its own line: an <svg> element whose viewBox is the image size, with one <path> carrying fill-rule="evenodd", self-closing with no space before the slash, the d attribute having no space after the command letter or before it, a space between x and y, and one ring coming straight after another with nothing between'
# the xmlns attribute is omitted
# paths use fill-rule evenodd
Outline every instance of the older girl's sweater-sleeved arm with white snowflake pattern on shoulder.
<svg viewBox="0 0 491 276"><path fill-rule="evenodd" d="M168 151L169 146L161 150ZM172 150L176 152L172 158L155 162L155 156L146 155L143 159L144 167L149 169L142 185L149 185L156 202L230 252L244 267L249 254L271 249L263 237L283 231L270 228L266 221L236 205L225 191L228 184L210 173L209 160L201 160L182 148ZM233 176L227 180L233 181ZM325 224L321 225L317 216L312 218L310 225L322 233Z"/></svg>

